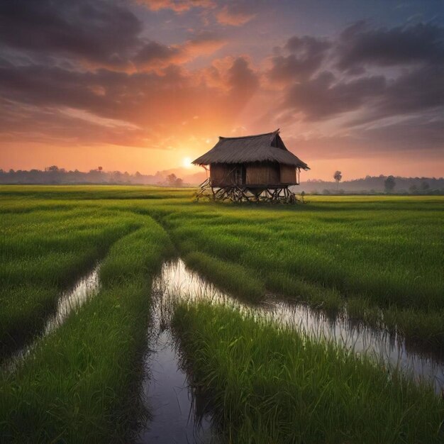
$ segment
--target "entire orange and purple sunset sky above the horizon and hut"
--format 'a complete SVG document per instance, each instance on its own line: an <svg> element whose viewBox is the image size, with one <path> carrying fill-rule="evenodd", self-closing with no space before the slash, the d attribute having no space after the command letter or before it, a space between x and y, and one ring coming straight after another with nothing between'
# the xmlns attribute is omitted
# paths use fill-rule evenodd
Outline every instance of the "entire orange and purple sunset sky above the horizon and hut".
<svg viewBox="0 0 444 444"><path fill-rule="evenodd" d="M442 177L444 1L0 1L3 170L191 173L277 128L302 180Z"/></svg>

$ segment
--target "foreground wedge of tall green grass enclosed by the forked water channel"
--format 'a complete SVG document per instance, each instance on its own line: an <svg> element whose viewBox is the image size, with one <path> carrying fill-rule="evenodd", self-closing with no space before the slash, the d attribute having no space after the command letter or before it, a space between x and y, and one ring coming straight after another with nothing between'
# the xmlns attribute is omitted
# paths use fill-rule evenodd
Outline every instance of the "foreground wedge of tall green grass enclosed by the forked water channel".
<svg viewBox="0 0 444 444"><path fill-rule="evenodd" d="M184 367L230 443L440 443L443 401L333 343L225 306L177 307Z"/></svg>

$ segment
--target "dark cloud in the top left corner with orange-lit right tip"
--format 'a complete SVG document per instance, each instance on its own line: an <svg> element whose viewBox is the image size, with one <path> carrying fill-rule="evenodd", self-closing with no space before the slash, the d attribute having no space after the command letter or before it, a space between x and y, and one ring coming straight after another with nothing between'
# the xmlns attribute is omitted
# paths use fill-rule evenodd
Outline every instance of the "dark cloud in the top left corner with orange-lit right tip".
<svg viewBox="0 0 444 444"><path fill-rule="evenodd" d="M146 40L143 22L118 5L104 0L2 2L0 38L9 48L32 55L30 62L60 65L64 57L74 67L126 71L188 62L226 43L209 32L177 45Z"/></svg>

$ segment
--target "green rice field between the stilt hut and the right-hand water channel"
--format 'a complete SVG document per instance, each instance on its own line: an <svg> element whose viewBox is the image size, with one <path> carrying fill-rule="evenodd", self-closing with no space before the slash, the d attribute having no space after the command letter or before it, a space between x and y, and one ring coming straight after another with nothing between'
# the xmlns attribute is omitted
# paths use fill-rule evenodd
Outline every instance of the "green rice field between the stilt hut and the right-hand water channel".
<svg viewBox="0 0 444 444"><path fill-rule="evenodd" d="M331 314L353 299L353 316L373 326L390 312L384 325L442 349L442 204L441 197L321 196L287 208L177 203L155 211L183 254L245 267L267 290L296 292ZM433 322L416 328L411 310Z"/></svg>

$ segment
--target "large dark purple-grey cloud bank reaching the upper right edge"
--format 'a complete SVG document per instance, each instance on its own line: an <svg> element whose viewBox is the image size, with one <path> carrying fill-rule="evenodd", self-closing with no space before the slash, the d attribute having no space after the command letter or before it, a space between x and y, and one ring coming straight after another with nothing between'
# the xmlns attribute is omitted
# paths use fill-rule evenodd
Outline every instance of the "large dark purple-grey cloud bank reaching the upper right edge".
<svg viewBox="0 0 444 444"><path fill-rule="evenodd" d="M295 50L300 48L301 41L293 40ZM292 39L287 47L292 47L291 42ZM296 82L285 90L284 106L302 113L306 120L360 110L360 117L348 123L355 125L444 106L444 28L419 24L371 30L363 22L356 23L345 29L331 47L332 57L338 60L331 66L334 75L316 75L329 47L313 41L310 45L305 52L316 55L318 62L309 64L311 70L305 71L306 77L298 77L304 69L297 64L287 64L287 71L282 67L278 70L276 57L273 67L281 76L285 73L291 77L293 73ZM387 67L401 71L387 74L382 71ZM379 70L380 74L370 76L364 68Z"/></svg>

